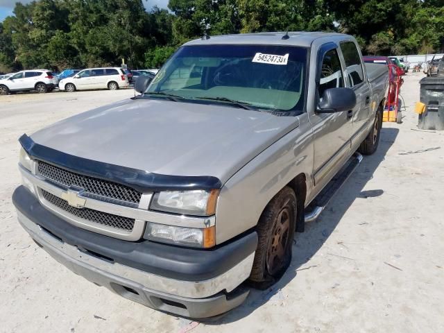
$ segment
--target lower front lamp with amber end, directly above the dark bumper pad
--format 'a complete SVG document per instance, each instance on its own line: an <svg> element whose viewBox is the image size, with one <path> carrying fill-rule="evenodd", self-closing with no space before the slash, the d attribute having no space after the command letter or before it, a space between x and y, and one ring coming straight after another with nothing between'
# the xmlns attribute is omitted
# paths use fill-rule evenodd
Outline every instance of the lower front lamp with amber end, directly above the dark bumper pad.
<svg viewBox="0 0 444 333"><path fill-rule="evenodd" d="M210 228L183 228L174 225L148 223L145 237L162 243L211 248L216 244L214 225Z"/></svg>

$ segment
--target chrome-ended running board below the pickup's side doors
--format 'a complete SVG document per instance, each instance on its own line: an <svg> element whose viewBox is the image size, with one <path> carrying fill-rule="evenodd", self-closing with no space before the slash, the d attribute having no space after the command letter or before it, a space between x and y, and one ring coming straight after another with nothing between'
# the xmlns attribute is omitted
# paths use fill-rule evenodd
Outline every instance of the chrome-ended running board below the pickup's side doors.
<svg viewBox="0 0 444 333"><path fill-rule="evenodd" d="M355 171L358 165L362 161L362 155L358 152L354 153L345 166L337 173L332 180L324 187L324 189L314 198L313 201L305 209L305 222L314 221L327 207L330 200L333 198L345 181L348 180L350 175Z"/></svg>

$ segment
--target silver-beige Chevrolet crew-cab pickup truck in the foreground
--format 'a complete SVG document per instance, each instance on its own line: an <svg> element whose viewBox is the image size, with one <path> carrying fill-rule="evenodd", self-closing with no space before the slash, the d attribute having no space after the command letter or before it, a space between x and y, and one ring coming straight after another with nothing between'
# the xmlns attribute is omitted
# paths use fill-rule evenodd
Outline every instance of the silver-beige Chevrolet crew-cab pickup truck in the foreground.
<svg viewBox="0 0 444 333"><path fill-rule="evenodd" d="M350 35L188 42L134 99L19 139L19 223L123 297L223 314L282 276L318 195L375 152L387 89Z"/></svg>

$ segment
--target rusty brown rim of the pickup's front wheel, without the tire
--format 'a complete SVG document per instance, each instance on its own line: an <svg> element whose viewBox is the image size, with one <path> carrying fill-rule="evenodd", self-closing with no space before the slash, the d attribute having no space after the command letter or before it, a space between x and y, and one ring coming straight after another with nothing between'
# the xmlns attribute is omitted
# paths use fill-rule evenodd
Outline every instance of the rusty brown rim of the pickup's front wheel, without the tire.
<svg viewBox="0 0 444 333"><path fill-rule="evenodd" d="M266 266L271 275L280 271L284 265L289 240L290 216L289 207L283 207L273 224L273 233L266 253Z"/></svg>

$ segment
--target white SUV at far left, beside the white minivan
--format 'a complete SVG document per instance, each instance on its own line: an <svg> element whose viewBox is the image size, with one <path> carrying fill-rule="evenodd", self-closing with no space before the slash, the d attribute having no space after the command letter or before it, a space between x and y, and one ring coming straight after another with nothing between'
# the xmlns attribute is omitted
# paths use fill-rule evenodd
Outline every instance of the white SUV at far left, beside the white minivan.
<svg viewBox="0 0 444 333"><path fill-rule="evenodd" d="M0 80L0 95L29 90L36 90L40 93L51 92L57 85L58 78L48 69L19 71L8 78Z"/></svg>

